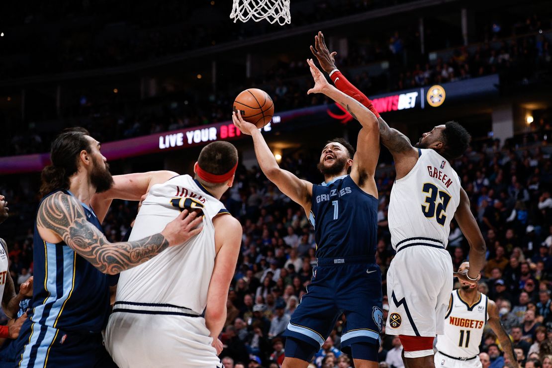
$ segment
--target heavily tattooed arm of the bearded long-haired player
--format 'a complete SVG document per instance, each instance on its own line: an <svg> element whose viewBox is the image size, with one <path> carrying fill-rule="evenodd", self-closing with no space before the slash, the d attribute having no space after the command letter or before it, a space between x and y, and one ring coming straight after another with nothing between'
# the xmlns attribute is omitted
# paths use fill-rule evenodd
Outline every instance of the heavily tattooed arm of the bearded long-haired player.
<svg viewBox="0 0 552 368"><path fill-rule="evenodd" d="M176 210L176 209L175 209ZM161 233L132 242L110 243L86 219L75 198L62 192L46 198L36 215L36 226L46 242L64 241L105 274L118 274L146 262L164 249L182 244L201 231L195 212L184 210Z"/></svg>

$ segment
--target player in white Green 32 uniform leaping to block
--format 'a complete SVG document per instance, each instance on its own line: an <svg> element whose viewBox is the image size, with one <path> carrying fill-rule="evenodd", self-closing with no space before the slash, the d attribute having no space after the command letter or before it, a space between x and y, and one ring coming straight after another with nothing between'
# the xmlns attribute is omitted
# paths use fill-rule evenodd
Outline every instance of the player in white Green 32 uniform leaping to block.
<svg viewBox="0 0 552 368"><path fill-rule="evenodd" d="M470 267L455 275L476 287L485 262L485 241L470 210L468 195L450 160L469 146L470 135L457 122L424 133L413 147L391 129L371 101L335 66L321 32L312 53L336 87L367 106L379 121L381 143L395 161L396 180L389 204L389 231L397 255L387 274L390 298L386 333L399 335L408 368L432 367L433 339L443 333L453 285L452 260L445 249L454 217L470 244Z"/></svg>

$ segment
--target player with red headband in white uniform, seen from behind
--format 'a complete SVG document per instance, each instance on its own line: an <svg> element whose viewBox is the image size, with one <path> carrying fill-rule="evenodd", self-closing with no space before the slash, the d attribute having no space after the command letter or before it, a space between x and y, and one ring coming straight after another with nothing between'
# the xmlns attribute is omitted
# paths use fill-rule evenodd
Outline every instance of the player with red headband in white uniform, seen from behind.
<svg viewBox="0 0 552 368"><path fill-rule="evenodd" d="M231 143L213 142L201 150L195 178L172 172L121 175L99 200L137 200L148 191L130 240L157 232L181 211L203 215L201 232L184 246L120 274L105 333L119 367L222 367L218 336L242 228L220 198L232 186L237 159Z"/></svg>

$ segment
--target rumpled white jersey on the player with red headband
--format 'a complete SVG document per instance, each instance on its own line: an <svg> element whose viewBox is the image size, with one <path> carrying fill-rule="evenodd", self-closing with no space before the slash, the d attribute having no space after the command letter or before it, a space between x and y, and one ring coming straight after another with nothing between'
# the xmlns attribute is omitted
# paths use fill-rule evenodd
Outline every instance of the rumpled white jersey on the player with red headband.
<svg viewBox="0 0 552 368"><path fill-rule="evenodd" d="M221 201L190 175L152 185L129 241L161 232L185 207L201 207L203 230L183 246L167 248L147 262L121 272L116 301L169 304L203 313L216 257L213 218L226 211Z"/></svg>

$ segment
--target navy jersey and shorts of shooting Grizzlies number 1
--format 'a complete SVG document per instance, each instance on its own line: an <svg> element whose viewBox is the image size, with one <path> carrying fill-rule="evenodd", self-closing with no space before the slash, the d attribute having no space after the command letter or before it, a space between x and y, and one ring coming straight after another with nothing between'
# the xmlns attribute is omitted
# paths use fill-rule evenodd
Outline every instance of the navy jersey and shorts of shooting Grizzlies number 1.
<svg viewBox="0 0 552 368"><path fill-rule="evenodd" d="M286 336L320 348L344 313L342 349L357 342L379 348L383 311L381 271L375 264L377 217L378 200L349 175L312 185L310 221L318 264Z"/></svg>

